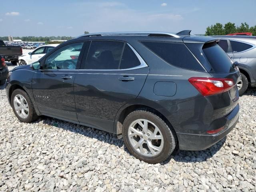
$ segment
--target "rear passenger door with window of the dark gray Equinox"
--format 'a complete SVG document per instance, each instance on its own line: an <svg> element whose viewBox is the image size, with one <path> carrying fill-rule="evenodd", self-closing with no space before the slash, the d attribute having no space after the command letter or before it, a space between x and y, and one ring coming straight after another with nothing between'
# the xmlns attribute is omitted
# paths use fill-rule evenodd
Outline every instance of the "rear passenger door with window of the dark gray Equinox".
<svg viewBox="0 0 256 192"><path fill-rule="evenodd" d="M149 67L129 44L90 42L74 81L78 121L113 132L117 111L138 96L148 72Z"/></svg>

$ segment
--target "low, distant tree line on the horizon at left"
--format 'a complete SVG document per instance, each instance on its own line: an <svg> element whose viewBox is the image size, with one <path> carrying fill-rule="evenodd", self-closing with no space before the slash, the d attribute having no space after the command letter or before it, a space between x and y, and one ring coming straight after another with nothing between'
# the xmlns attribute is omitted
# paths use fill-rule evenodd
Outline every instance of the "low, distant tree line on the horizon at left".
<svg viewBox="0 0 256 192"><path fill-rule="evenodd" d="M13 39L21 39L22 41L32 41L32 42L39 42L39 41L51 41L51 40L70 40L74 37L71 36L50 36L50 37L35 37L35 36L25 36L25 37L13 37ZM0 37L0 40L8 41L8 36Z"/></svg>

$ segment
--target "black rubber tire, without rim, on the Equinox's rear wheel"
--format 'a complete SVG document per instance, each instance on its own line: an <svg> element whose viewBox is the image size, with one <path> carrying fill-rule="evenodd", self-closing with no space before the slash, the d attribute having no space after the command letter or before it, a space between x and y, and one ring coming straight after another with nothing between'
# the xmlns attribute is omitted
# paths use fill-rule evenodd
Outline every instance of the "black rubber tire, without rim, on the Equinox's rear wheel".
<svg viewBox="0 0 256 192"><path fill-rule="evenodd" d="M162 148L162 151L156 156L149 157L140 154L140 152L136 151L130 143L130 140L128 138L128 128L130 124L132 124L132 122L138 119L146 119L151 121L162 132L162 136L164 138L164 146ZM165 122L163 118L161 118L159 115L148 109L138 109L134 112L131 112L124 120L122 126L122 135L124 139L124 144L128 148L129 152L136 158L151 164L160 163L166 160L170 156L170 154L172 154L178 142L178 138L172 126Z"/></svg>

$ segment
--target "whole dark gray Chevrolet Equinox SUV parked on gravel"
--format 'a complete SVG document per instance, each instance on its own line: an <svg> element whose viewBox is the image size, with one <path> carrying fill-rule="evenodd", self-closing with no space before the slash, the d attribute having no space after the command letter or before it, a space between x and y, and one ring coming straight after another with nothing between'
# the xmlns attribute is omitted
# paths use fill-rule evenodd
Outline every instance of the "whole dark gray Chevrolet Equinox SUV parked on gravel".
<svg viewBox="0 0 256 192"><path fill-rule="evenodd" d="M22 122L46 115L90 126L123 137L136 158L162 162L176 147L209 148L238 122L240 73L217 40L84 34L12 70L6 93Z"/></svg>

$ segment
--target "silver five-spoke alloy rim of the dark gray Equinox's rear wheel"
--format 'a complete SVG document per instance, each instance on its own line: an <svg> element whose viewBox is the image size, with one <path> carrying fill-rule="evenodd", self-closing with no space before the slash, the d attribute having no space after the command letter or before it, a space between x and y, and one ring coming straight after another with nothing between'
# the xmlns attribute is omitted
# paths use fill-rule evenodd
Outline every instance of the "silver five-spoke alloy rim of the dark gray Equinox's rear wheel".
<svg viewBox="0 0 256 192"><path fill-rule="evenodd" d="M164 146L161 131L153 122L146 119L138 119L130 124L128 138L134 150L144 156L156 156Z"/></svg>

